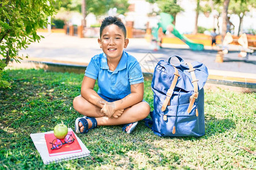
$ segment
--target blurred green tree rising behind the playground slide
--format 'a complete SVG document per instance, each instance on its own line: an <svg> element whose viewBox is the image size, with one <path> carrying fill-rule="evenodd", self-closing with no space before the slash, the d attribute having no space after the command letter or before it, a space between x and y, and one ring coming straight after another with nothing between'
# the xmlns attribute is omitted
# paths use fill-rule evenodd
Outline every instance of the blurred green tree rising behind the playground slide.
<svg viewBox="0 0 256 170"><path fill-rule="evenodd" d="M161 12L166 12L167 14L171 14L172 16L174 16L174 22L173 24L175 25L176 22L176 15L181 12L184 11L183 8L181 8L179 5L177 5L177 1L176 0L147 0L150 3L158 3L158 6L161 10Z"/></svg>

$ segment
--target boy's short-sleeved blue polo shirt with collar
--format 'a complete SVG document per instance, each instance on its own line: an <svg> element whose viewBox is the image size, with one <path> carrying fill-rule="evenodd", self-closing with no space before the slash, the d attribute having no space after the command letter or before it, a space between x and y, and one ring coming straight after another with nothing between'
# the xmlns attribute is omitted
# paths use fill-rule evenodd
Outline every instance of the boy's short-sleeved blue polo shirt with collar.
<svg viewBox="0 0 256 170"><path fill-rule="evenodd" d="M123 52L114 71L109 70L105 53L94 56L85 70L85 76L98 79L98 94L110 99L123 99L131 93L130 85L144 82L137 59Z"/></svg>

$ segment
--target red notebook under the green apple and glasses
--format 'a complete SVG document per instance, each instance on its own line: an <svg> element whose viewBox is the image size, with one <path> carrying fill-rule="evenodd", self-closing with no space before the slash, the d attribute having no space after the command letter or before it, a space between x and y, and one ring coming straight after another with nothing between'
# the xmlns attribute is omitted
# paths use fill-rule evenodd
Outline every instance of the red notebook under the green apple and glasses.
<svg viewBox="0 0 256 170"><path fill-rule="evenodd" d="M71 134L72 137L75 139L75 141L71 144L65 144L61 146L59 149L53 149L52 142L54 139L56 139L55 135L53 133L44 134L44 138L46 138L46 145L48 148L49 156L56 156L56 155L64 155L64 154L71 154L75 152L81 152L81 146L79 145L79 142L77 141L76 135L73 133L73 131L69 131L68 134ZM60 139L61 142L64 143L64 139Z"/></svg>

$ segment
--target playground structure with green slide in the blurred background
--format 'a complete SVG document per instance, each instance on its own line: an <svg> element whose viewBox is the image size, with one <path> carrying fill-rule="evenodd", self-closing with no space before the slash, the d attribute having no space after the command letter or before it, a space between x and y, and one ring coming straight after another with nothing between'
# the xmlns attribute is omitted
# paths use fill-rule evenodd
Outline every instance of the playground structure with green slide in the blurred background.
<svg viewBox="0 0 256 170"><path fill-rule="evenodd" d="M167 31L171 32L173 35L175 35L177 38L179 38L181 41L185 42L192 50L204 50L203 44L195 43L191 40L189 40L187 37L182 35L177 29L175 28L175 25L172 24L174 18L172 15L167 13L160 13L160 22L158 23L158 28L152 28L152 36L154 37L154 41L161 41L161 35L159 36L159 29L162 29L163 33L166 33Z"/></svg>

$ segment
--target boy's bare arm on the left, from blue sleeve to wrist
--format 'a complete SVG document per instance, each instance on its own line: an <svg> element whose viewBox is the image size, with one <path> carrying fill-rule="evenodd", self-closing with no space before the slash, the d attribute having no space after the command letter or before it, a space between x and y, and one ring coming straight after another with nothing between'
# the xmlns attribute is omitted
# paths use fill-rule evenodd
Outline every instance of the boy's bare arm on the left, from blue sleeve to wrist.
<svg viewBox="0 0 256 170"><path fill-rule="evenodd" d="M102 108L106 103L106 100L102 99L97 92L93 90L95 82L95 79L84 76L81 86L81 95L90 103Z"/></svg>

